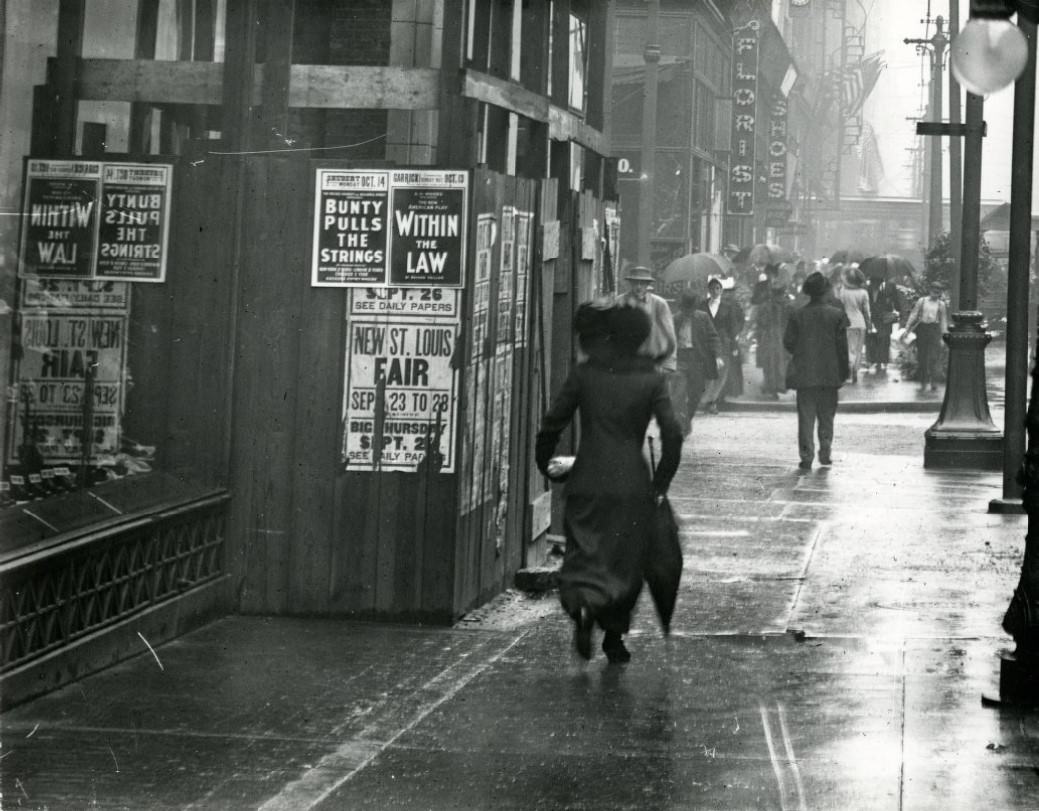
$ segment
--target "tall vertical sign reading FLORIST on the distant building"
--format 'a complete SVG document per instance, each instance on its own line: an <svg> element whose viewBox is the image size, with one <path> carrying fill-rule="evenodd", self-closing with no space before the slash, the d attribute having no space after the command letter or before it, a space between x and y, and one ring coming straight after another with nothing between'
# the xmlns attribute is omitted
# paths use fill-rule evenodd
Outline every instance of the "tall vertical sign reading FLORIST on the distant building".
<svg viewBox="0 0 1039 811"><path fill-rule="evenodd" d="M757 115L758 20L740 28L732 39L732 138L726 212L754 213L754 133Z"/></svg>

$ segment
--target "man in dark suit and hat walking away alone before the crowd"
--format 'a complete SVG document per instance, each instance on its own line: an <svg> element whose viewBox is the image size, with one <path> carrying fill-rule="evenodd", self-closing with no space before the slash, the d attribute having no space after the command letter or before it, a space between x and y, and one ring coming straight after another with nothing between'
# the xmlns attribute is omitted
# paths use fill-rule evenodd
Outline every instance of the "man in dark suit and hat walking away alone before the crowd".
<svg viewBox="0 0 1039 811"><path fill-rule="evenodd" d="M783 347L793 355L787 367L787 387L797 389L798 465L810 470L816 447L812 433L819 423L819 463L831 464L833 417L837 389L848 379L848 316L826 301L830 283L811 273L802 291L807 304L794 312L783 331Z"/></svg>

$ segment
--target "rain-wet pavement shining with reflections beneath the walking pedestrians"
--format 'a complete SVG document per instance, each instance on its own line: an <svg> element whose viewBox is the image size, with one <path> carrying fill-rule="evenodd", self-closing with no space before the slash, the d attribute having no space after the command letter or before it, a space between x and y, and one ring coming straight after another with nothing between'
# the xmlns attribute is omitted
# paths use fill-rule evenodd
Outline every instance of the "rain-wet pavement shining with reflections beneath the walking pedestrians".
<svg viewBox="0 0 1039 811"><path fill-rule="evenodd" d="M4 808L1034 809L1039 715L986 707L1025 518L931 471L933 415L697 417L674 632L570 651L553 594L453 628L236 616L3 717Z"/></svg>

